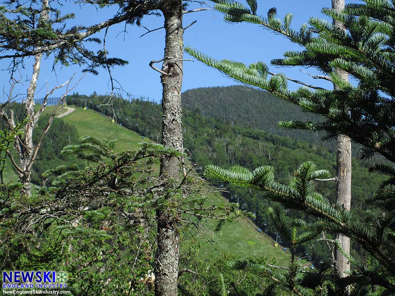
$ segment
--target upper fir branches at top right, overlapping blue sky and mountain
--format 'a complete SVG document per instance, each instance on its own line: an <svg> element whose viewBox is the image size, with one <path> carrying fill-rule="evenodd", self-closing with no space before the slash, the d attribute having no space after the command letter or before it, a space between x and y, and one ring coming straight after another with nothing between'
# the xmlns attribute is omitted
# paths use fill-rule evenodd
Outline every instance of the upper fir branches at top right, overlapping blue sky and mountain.
<svg viewBox="0 0 395 296"><path fill-rule="evenodd" d="M216 61L192 48L187 48L191 55L240 82L267 90L285 101L299 105L304 111L321 114L327 118L323 122L309 122L305 125L300 122L287 123L286 127L326 131L327 138L333 138L338 134L349 135L365 146L362 149L365 157L377 152L391 161L395 160L389 148L390 143L394 141L389 109L391 100L379 92L380 90L389 96L392 95L392 86L388 82L391 79L388 75L393 73L390 63L393 31L389 30L389 26L392 26L391 22L387 22L382 17L376 19L379 15L378 11L383 6L389 5L389 2L373 4L368 1L360 6L349 5L344 13L323 9L323 13L344 23L347 34L326 21L313 18L310 20L312 30L309 30L309 36L296 31L285 32L278 25L273 9L269 11L268 19L260 18L258 21L254 20L254 15L245 12L244 8L238 10L236 2L215 2L218 3L216 8L225 13L226 20L243 11L238 21L263 25L284 35L292 42L305 46L305 51L286 52L285 58L273 60L273 64L316 67L319 71L329 74L329 78L337 83L340 90L311 91L302 87L296 91L289 91L283 74L280 76L274 74L271 78L267 78L268 71L258 72L256 64L247 67L229 60ZM305 30L304 28L302 27L301 32ZM318 34L313 36L313 32ZM262 62L260 64L263 65L260 69L268 69ZM358 86L353 87L339 80L333 71L335 68L354 76L359 81ZM372 79L375 77L376 79ZM374 123L371 120L372 115L375 117Z"/></svg>

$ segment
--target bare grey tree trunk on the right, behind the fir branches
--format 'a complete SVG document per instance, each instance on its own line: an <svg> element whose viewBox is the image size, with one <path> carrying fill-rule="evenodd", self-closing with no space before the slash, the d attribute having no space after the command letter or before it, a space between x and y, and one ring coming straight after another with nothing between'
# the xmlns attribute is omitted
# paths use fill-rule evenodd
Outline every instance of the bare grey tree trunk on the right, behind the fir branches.
<svg viewBox="0 0 395 296"><path fill-rule="evenodd" d="M332 0L332 8L343 10L345 0ZM333 20L333 24L339 28L344 28L342 23ZM338 71L344 80L349 79L346 72ZM334 85L338 89L337 85ZM346 110L345 110L346 111ZM336 155L336 203L342 205L346 210L351 208L351 140L345 135L337 137L337 155ZM340 247L343 252L350 255L350 238L342 234L337 234L336 239L340 241ZM336 272L339 276L344 277L350 271L350 262L338 248L335 249Z"/></svg>

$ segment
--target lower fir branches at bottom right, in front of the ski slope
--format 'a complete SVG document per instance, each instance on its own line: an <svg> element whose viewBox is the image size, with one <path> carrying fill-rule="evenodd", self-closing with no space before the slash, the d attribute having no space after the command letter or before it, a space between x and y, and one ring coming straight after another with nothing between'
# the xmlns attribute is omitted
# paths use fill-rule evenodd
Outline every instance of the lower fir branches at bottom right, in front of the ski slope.
<svg viewBox="0 0 395 296"><path fill-rule="evenodd" d="M381 240L380 244L385 244L387 238L384 238L384 228L387 226L375 225L376 233L378 230L380 234L375 234L371 231L372 221L364 221L357 219L351 213L344 209L332 205L328 200L325 200L320 194L313 190L311 186L312 180L327 176L325 171L316 171L313 163L302 164L297 171L294 172L294 179L290 181L289 185L280 185L274 181L274 176L271 168L262 167L256 169L254 172L247 171L240 168L231 168L224 170L215 166L208 166L205 171L208 177L214 177L221 181L228 181L235 184L248 185L250 187L258 186L260 190L269 193L267 197L276 200L284 205L287 209L302 210L307 214L316 217L314 222L306 223L299 219L287 219L284 212L279 207L268 209L268 214L276 228L281 233L281 236L291 245L291 261L286 274L276 271L278 266L268 264L247 263L245 261L234 261L228 263L228 266L236 270L251 270L255 274L260 274L272 281L273 288L282 295L282 293L290 292L298 295L347 295L347 286L351 283L357 283L353 293L356 295L366 295L366 283L375 283L386 289L386 293L394 290L392 285L393 276L391 273L391 266L386 265L386 256L378 259L379 264L375 265L375 271L364 263L358 263L356 259L349 258L349 260L356 264L357 268L352 275L343 280L334 279L331 270L322 266L322 270L317 272L312 271L304 273L303 267L299 260L295 258L295 251L299 244L314 239L323 231L342 232L347 236L358 242L363 248L372 252L371 254L378 258L380 256L374 255L375 250L372 247ZM376 218L377 219L377 218ZM392 219L392 218L391 218ZM383 222L383 221L381 221ZM391 226L388 228L390 230ZM372 229L373 230L373 229ZM383 231L384 230L384 231ZM391 232L391 231L390 231ZM392 243L387 241L385 248L391 250ZM392 252L392 251L390 251ZM378 267L379 266L379 267ZM374 274L374 275L373 275ZM331 286L331 281L335 281L335 287ZM316 285L312 286L312 283ZM321 285L321 286L319 286ZM282 292L279 292L282 291ZM244 293L241 290L238 294ZM354 294L353 294L354 295Z"/></svg>

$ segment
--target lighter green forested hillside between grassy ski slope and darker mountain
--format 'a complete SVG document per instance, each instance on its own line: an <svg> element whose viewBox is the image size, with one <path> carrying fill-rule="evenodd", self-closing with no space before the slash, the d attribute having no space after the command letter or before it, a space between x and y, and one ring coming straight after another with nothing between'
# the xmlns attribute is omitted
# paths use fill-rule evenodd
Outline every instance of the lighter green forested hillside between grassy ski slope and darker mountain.
<svg viewBox="0 0 395 296"><path fill-rule="evenodd" d="M210 89L213 91L213 100L215 97L214 90L216 89L221 91L232 88ZM247 91L250 90L245 87L236 87L235 89L241 91L245 89L247 89ZM192 92L193 90L189 91L190 95ZM265 94L256 90L252 90L252 92L256 94ZM161 117L161 107L159 104L144 101L142 99L132 101L119 99L115 102L116 104L114 104L117 108L113 113L113 110L108 106L100 105L105 99L100 96L91 95L88 97L74 94L68 97L68 103L83 107L85 106L85 99L88 107L107 116L114 116L115 114L114 119L122 126L134 130L154 141L160 140L159 118ZM236 100L236 97L234 97L234 100ZM244 99L242 98L241 100ZM270 100L272 100L274 104L271 113L278 114L275 110L280 109L280 107L276 107L275 99L270 98ZM256 98L256 104L258 103L258 98ZM236 101L232 104L236 104ZM282 105L283 104L280 104L279 106ZM284 108L292 107L288 104L284 106L286 106ZM226 107L224 107L224 109L225 108ZM255 110L256 108L258 107L255 106ZM210 109L211 108L207 108L207 110ZM290 113L296 112L293 109L288 110ZM312 160L317 164L318 168L328 169L332 174L335 173L335 153L331 151L330 148L323 147L319 145L319 143L317 144L316 141L319 139L315 134L306 133L307 139L311 136L312 142L279 136L265 130L251 127L252 124L241 119L249 117L244 114L245 111L242 108L237 111L237 108L234 107L232 112L235 113L235 118L239 118L240 125L229 124L226 120L207 116L207 114L204 114L202 110L198 108L192 111L188 109L184 110L184 147L191 152L188 164L192 165L192 163L195 163L197 172L201 173L204 166L208 164L215 164L225 168L238 164L249 169L254 169L262 165L272 165L276 168L276 178L278 181L287 183L293 171L298 168L302 162ZM301 111L299 112L302 113ZM258 125L258 114L259 110L256 110L255 126ZM309 116L309 114L302 114L305 116L304 118L308 118ZM273 122L277 122L280 119L281 118L275 116L272 117ZM288 117L287 119L292 118ZM275 128L275 124L272 126ZM276 130L281 129L276 127ZM368 168L370 168L375 161L377 160L362 161L358 158L354 158L353 160L352 208L356 213L362 210L363 201L366 198L372 197L383 180L379 175L370 174L368 172ZM265 199L262 193L228 184L214 183L213 185L227 187L229 193L226 193L225 196L234 202L237 201L238 197L239 203L243 209L256 213L257 219L255 222L257 225L262 229L267 228L268 233L276 237L276 229L268 221L266 212L271 202ZM334 183L317 182L316 187L323 196L334 200ZM304 247L307 249L310 248L310 245L306 244ZM358 246L354 247L357 248ZM322 245L319 243L316 244L316 247L310 251L313 259L319 260L326 258L328 253L325 248L323 243Z"/></svg>

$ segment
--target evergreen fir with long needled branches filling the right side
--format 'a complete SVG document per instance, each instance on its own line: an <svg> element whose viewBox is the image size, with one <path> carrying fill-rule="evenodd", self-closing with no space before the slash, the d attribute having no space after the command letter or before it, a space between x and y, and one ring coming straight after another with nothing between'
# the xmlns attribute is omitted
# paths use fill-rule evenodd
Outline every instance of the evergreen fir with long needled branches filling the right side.
<svg viewBox="0 0 395 296"><path fill-rule="evenodd" d="M215 2L218 3L216 8L225 13L228 21L247 21L263 25L304 46L305 50L286 52L285 58L273 60L273 64L315 67L325 74L320 77L332 81L337 89L325 90L298 81L305 87L289 91L287 80L295 80L284 74L271 73L262 62L247 67L229 60L215 61L191 48L187 49L188 52L232 78L272 92L281 99L299 105L305 111L326 117L322 122L282 122L281 126L310 131L322 130L327 133L328 139L346 135L363 146L363 157L379 153L394 162L395 93L393 83L390 82L394 76L393 2L365 1L363 4L349 4L343 11L324 8L323 13L342 23L344 28L311 18L309 23L312 28L303 25L299 31L290 28L292 15L286 15L284 22L281 22L276 18L275 8L269 10L268 17L258 16L256 1L247 1L249 7L235 1ZM339 71L356 78L357 85L344 80ZM356 268L344 281L347 284L357 283L362 288L368 283L378 285L382 287L381 292L384 294L394 293L393 164L373 168L390 175L390 179L382 184L374 198L367 201L382 210L383 215L376 216L366 212L364 220L357 219L350 211L331 204L312 192L310 188L313 180L322 177L318 177L322 171L314 172L313 169L314 165L311 163L302 164L295 171L295 179L289 185L276 183L270 167L260 167L250 172L239 167L222 170L210 166L206 176L263 190L284 206L316 217L316 222L309 224L295 222L302 228L338 232L350 237L370 254L373 261L377 260L377 263L356 264ZM275 221L280 224L281 219L275 217ZM340 247L338 242L336 244ZM365 282L359 282L361 278ZM339 283L336 279L334 281ZM296 280L292 282L297 283ZM347 284L342 287L347 287ZM361 294L364 288L360 290L358 287L353 286L351 293ZM341 294L336 291L334 293ZM347 293L347 289L342 293Z"/></svg>

